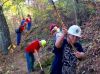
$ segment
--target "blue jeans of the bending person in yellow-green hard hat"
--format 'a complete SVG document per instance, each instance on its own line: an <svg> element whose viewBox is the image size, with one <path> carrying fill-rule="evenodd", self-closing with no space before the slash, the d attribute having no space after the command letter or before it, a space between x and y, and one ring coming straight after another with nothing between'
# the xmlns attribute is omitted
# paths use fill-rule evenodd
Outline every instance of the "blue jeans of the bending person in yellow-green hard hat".
<svg viewBox="0 0 100 74"><path fill-rule="evenodd" d="M33 53L25 52L25 55L26 55L28 73L30 73L34 70L35 57Z"/></svg>

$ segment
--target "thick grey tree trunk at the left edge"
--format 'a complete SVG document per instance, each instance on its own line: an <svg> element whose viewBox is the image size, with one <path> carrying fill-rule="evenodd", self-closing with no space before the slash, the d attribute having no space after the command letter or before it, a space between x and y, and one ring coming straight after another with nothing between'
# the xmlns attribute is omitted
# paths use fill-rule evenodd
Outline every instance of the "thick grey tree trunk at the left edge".
<svg viewBox="0 0 100 74"><path fill-rule="evenodd" d="M10 44L9 28L3 14L2 5L0 5L0 51L2 51L3 54L7 54Z"/></svg>

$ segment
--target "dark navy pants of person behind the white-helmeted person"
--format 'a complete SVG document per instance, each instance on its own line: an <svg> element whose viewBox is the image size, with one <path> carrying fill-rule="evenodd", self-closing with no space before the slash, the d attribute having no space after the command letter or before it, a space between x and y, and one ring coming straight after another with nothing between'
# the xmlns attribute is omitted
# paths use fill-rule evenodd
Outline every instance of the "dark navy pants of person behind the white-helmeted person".
<svg viewBox="0 0 100 74"><path fill-rule="evenodd" d="M61 56L55 56L50 74L62 74L62 58Z"/></svg>

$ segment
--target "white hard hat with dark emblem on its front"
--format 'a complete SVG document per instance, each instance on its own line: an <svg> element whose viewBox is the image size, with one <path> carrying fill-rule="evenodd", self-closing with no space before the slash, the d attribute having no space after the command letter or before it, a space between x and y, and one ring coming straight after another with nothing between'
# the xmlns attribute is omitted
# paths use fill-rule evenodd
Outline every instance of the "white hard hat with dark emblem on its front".
<svg viewBox="0 0 100 74"><path fill-rule="evenodd" d="M77 37L81 37L81 28L77 25L72 25L69 29L68 29L68 34L77 36Z"/></svg>

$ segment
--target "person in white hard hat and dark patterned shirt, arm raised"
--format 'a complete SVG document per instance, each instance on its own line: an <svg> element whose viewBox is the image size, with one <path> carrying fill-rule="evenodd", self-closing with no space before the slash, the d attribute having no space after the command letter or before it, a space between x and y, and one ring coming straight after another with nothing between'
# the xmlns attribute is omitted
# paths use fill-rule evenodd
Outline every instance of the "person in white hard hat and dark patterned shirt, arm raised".
<svg viewBox="0 0 100 74"><path fill-rule="evenodd" d="M62 45L64 46L62 74L76 74L77 60L85 57L83 48L81 44L78 43L79 38L81 38L81 28L77 25L72 25L67 32L65 29L62 29L62 33L63 35L55 44L57 48L61 48ZM64 39L65 36L66 40Z"/></svg>

